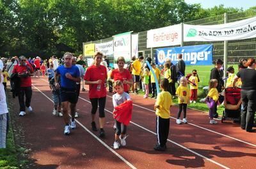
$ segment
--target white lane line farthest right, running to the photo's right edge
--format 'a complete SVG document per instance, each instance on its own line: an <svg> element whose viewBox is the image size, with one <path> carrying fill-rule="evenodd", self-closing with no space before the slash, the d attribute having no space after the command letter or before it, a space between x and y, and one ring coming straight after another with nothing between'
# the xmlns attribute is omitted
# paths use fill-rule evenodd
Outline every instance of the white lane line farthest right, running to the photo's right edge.
<svg viewBox="0 0 256 169"><path fill-rule="evenodd" d="M41 78L41 79L42 79L42 78ZM42 80L44 80L44 79L42 79ZM46 80L44 80L44 81L47 82ZM109 98L112 98L112 96L109 96L109 95L107 95L107 96L108 96ZM136 105L136 104L134 104L134 103L133 103L132 105L134 105L134 106L136 106L136 107L143 108L143 109L148 110L148 111L150 111L150 112L156 113L154 110L151 110L151 109L149 109L149 108L141 107L140 105ZM193 109L193 110L195 110L195 109ZM170 118L175 119L174 117L170 117ZM217 131L213 131L213 130L211 130L211 129L207 129L207 128L198 126L198 125L193 124L193 123L191 123L191 122L188 122L188 124L190 124L191 126L195 126L195 127L197 127L197 128L200 128L200 129L204 129L204 130L206 130L206 131L210 131L210 132L215 133L215 134L217 134L217 135L225 136L225 137L230 138L230 139L232 139L232 140L236 140L237 142L246 143L246 144L248 144L248 145L252 145L253 147L256 147L256 145L253 144L253 143L245 142L245 141L243 141L243 140L239 140L238 138L234 138L234 137L232 137L232 136L224 135L224 134L219 133L219 132L217 132Z"/></svg>

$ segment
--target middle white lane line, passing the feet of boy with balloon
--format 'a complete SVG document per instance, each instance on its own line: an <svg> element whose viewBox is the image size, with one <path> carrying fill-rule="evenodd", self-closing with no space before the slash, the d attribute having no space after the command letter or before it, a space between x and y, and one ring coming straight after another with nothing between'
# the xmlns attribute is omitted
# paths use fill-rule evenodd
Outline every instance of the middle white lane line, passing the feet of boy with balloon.
<svg viewBox="0 0 256 169"><path fill-rule="evenodd" d="M80 99L83 99L84 101L87 101L88 103L91 103L91 102L88 101L87 99L84 99L84 98L81 98L81 97L79 97L79 98L80 98ZM106 110L107 112L109 112L110 114L112 114L112 112L109 111L109 110L107 110L106 108L105 108L105 110ZM138 127L141 128L141 129L144 129L145 131L148 131L149 133L152 133L152 134L156 135L156 133L154 133L154 131L151 131L150 129L144 128L143 126L140 126L140 124L136 124L135 122L132 122L132 121L131 121L131 123L134 124L135 126L138 126ZM212 159L209 159L209 158L203 156L202 154L199 154L198 152L192 151L191 149L188 149L187 147L184 147L183 145L180 145L179 143L173 142L173 141L170 140L170 139L167 139L167 140L168 140L168 142L171 142L171 143L173 143L173 144L175 144L175 145L181 147L182 149L185 149L186 151L189 151L189 152L191 152L191 153L193 153L193 154L196 154L197 156L199 156L199 157L201 157L201 158L203 158L203 159L206 159L207 161L210 161L210 162L212 162L212 163L214 163L214 164L216 164L216 165L218 165L218 166L221 166L222 168L228 169L227 166L221 165L220 163L218 163L218 162L216 162L216 161L213 161Z"/></svg>

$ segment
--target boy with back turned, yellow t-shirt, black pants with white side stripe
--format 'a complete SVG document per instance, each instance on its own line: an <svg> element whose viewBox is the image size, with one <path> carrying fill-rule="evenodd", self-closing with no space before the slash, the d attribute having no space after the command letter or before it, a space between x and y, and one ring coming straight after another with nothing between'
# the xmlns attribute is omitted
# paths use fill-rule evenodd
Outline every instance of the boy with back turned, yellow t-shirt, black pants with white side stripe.
<svg viewBox="0 0 256 169"><path fill-rule="evenodd" d="M154 108L156 110L156 133L157 144L154 146L156 151L165 151L166 142L170 128L170 107L172 107L172 95L167 91L168 80L161 80L160 87L162 92L157 96Z"/></svg>

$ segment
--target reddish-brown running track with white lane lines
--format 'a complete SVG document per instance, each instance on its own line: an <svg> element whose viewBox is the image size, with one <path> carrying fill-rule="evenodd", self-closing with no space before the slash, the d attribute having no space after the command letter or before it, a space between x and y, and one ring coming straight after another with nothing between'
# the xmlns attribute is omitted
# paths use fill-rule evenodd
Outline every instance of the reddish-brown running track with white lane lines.
<svg viewBox="0 0 256 169"><path fill-rule="evenodd" d="M20 117L19 122L27 148L32 150L29 158L35 161L34 168L255 168L256 133L246 133L231 122L211 125L207 114L195 110L187 112L189 124L178 125L173 118L177 107L172 107L168 149L154 151L155 100L134 94L127 146L114 150L111 95L108 93L106 101L106 138L99 139L99 133L91 129L88 92L80 93L77 128L65 136L63 119L52 116L47 78L33 78L34 112Z"/></svg>

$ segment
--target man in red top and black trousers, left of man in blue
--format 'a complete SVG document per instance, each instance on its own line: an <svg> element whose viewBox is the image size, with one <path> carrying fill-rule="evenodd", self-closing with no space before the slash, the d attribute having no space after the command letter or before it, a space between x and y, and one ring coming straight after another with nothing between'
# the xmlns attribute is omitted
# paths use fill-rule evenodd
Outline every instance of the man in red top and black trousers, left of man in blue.
<svg viewBox="0 0 256 169"><path fill-rule="evenodd" d="M29 112L32 112L30 106L32 98L32 89L31 89L31 76L33 76L33 68L29 62L26 62L27 59L24 55L20 56L20 63L16 64L13 68L12 73L17 73L20 77L20 92L19 92L19 105L20 105L20 116L26 114L26 107ZM24 103L24 95L26 96L26 101ZM26 107L25 107L26 106Z"/></svg>

